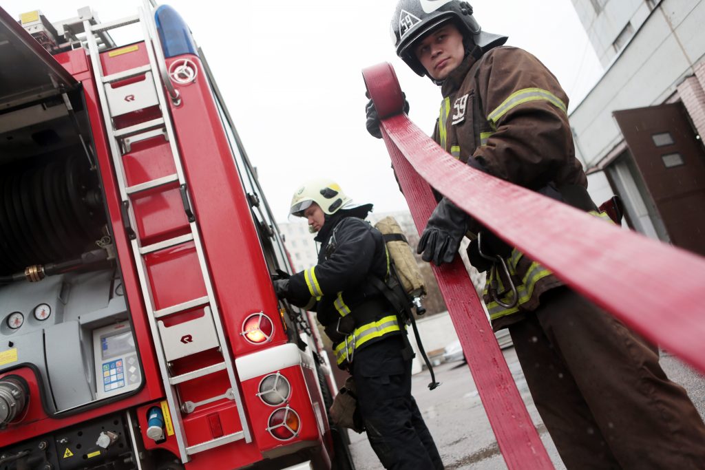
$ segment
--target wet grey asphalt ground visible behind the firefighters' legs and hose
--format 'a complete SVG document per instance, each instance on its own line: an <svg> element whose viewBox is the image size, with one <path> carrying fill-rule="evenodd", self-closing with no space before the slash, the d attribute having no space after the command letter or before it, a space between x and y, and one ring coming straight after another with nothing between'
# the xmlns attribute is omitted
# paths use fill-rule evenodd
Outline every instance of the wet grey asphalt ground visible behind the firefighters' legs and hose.
<svg viewBox="0 0 705 470"><path fill-rule="evenodd" d="M503 350L503 353L551 461L556 469L565 469L534 407L513 347ZM666 352L661 353L661 366L671 380L687 390L700 415L705 416L705 377ZM451 362L441 364L434 370L436 380L442 383L441 387L429 390L430 376L424 371L413 376L412 390L439 447L446 470L506 469L467 364ZM381 469L364 433L358 435L350 431L350 451L357 470Z"/></svg>

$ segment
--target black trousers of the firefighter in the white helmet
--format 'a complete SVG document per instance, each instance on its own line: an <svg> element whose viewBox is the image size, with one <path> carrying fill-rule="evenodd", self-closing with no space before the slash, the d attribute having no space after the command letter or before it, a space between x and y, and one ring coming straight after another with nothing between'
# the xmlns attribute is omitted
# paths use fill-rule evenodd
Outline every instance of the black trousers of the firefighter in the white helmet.
<svg viewBox="0 0 705 470"><path fill-rule="evenodd" d="M353 378L367 438L385 469L443 469L441 456L411 396L411 361L393 336L355 352Z"/></svg>

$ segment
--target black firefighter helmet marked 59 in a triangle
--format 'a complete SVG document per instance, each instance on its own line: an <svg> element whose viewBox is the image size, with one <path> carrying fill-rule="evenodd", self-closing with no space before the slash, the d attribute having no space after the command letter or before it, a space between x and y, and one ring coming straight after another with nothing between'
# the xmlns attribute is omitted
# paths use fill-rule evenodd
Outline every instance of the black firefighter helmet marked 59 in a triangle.
<svg viewBox="0 0 705 470"><path fill-rule="evenodd" d="M446 21L453 21L462 35L472 39L483 52L507 41L506 36L483 31L467 1L400 0L392 16L391 35L397 55L417 74L427 75L416 58L414 43Z"/></svg>

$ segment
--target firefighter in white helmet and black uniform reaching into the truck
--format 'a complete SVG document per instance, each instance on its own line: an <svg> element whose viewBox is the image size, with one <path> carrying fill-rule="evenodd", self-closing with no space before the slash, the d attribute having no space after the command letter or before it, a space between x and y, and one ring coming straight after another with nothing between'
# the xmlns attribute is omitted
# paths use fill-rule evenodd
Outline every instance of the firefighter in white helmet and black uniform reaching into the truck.
<svg viewBox="0 0 705 470"><path fill-rule="evenodd" d="M393 308L368 279L388 276L379 230L331 180L313 180L293 195L290 214L308 219L321 244L318 264L274 281L280 299L317 312L336 361L350 371L372 449L386 469L443 469L411 395L413 351Z"/></svg>

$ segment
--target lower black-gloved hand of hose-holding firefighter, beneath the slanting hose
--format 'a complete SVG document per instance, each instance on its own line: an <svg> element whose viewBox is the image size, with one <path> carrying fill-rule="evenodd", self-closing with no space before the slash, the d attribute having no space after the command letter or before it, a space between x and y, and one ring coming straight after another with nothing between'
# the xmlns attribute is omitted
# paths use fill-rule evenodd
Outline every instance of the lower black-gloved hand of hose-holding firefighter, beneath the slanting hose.
<svg viewBox="0 0 705 470"><path fill-rule="evenodd" d="M434 209L421 234L416 252L436 266L450 263L458 252L470 217L444 197Z"/></svg>

